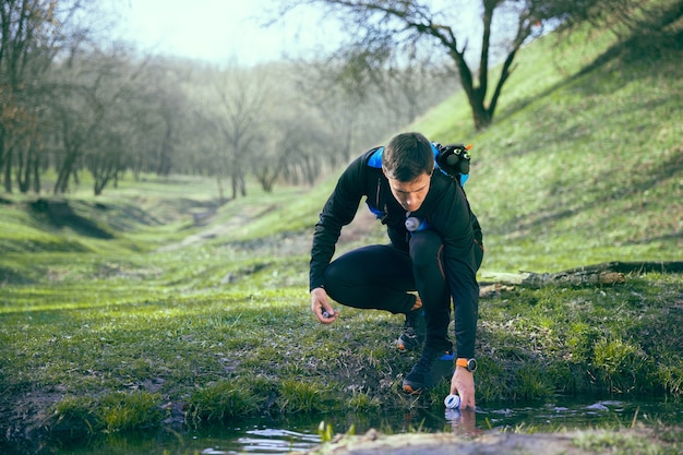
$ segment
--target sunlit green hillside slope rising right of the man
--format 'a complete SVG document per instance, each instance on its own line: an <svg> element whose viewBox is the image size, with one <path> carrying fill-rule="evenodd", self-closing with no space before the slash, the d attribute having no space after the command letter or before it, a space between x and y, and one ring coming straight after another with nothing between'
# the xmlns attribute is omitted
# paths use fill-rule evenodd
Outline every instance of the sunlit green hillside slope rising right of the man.
<svg viewBox="0 0 683 455"><path fill-rule="evenodd" d="M475 145L484 271L681 258L683 52L575 39L520 52L489 130L468 127L462 94L411 127Z"/></svg>

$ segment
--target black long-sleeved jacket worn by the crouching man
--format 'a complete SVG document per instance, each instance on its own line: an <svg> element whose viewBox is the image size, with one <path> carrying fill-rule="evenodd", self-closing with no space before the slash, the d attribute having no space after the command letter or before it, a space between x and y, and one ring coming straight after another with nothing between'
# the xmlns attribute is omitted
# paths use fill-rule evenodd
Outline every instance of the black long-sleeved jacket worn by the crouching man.
<svg viewBox="0 0 683 455"><path fill-rule="evenodd" d="M378 151L366 152L346 168L320 214L311 250L311 290L324 287L325 268L334 255L342 227L351 223L363 196L386 225L391 242L408 251L406 211L394 199L382 169L376 164L369 164ZM438 169L424 202L411 216L427 220L443 239L446 279L454 302L458 357L474 357L479 302L476 274L481 260L481 250L477 254L475 249L483 248L477 217L471 213L460 184Z"/></svg>

